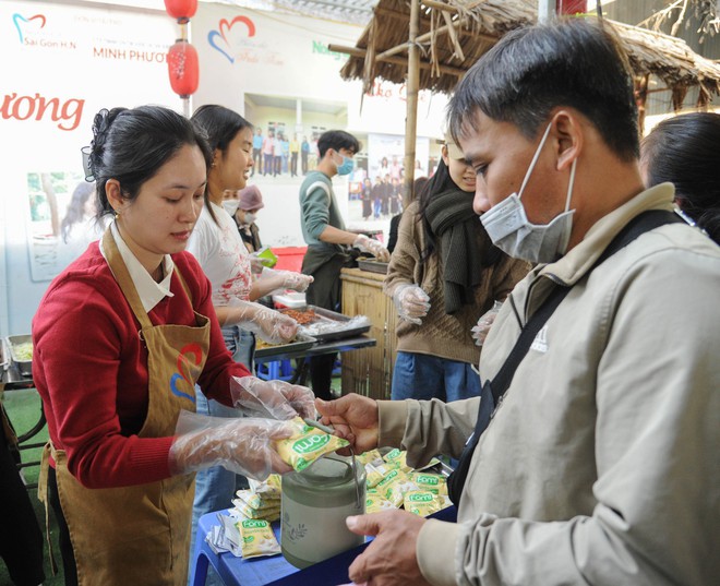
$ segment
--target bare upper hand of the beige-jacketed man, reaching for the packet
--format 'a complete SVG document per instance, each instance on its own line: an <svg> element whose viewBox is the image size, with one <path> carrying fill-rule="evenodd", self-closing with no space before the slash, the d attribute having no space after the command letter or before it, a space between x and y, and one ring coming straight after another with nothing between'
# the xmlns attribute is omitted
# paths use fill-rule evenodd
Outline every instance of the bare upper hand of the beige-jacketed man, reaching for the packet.
<svg viewBox="0 0 720 586"><path fill-rule="evenodd" d="M337 400L315 399L321 422L332 424L340 438L350 442L356 454L377 447L377 403L350 393Z"/></svg>

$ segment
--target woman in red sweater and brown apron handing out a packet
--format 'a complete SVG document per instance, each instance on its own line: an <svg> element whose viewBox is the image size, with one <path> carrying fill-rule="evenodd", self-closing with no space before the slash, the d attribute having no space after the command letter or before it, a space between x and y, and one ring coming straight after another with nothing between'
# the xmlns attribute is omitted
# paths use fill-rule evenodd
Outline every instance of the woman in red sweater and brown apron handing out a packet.
<svg viewBox="0 0 720 586"><path fill-rule="evenodd" d="M272 449L290 434L285 423L185 414L195 382L226 405L261 396L303 416L312 393L254 379L231 359L209 283L184 252L211 160L203 133L151 106L103 110L93 133L88 179L115 219L50 284L33 320L65 584L180 586L192 473L289 471Z"/></svg>

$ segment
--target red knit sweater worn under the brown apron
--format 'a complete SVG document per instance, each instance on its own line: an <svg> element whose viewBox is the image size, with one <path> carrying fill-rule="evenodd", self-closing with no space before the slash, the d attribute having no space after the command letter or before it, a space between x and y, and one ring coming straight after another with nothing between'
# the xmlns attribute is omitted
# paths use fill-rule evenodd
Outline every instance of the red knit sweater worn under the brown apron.
<svg viewBox="0 0 720 586"><path fill-rule="evenodd" d="M211 302L211 285L195 259L172 256L194 309L211 319L211 348L199 384L230 404L229 378L248 369L233 362ZM155 325L194 325L193 308L173 272L170 290L151 312ZM172 438L139 438L148 402L147 350L140 323L115 280L98 243L51 284L33 320L33 378L53 445L88 488L112 488L168 478Z"/></svg>

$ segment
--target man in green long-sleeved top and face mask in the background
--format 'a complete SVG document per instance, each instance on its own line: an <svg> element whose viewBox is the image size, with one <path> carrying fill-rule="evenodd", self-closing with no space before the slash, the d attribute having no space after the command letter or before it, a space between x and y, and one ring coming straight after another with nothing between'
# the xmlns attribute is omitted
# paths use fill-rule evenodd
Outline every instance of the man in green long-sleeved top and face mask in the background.
<svg viewBox="0 0 720 586"><path fill-rule="evenodd" d="M333 177L352 172L352 157L360 143L348 132L329 130L317 140L317 167L308 172L300 187L300 222L308 251L302 272L314 277L305 292L309 304L340 311L340 270L349 264L351 247L387 262L389 253L377 240L345 229L335 201ZM316 396L329 399L331 376L336 356L313 357L310 361L311 386Z"/></svg>

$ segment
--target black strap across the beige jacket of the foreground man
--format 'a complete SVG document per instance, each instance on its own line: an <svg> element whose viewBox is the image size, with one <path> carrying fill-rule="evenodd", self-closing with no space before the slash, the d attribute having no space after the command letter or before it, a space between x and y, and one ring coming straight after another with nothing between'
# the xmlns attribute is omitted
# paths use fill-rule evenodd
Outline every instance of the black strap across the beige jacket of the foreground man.
<svg viewBox="0 0 720 586"><path fill-rule="evenodd" d="M635 240L638 236L664 224L672 223L685 223L685 220L674 212L669 212L665 210L649 210L644 212L633 219L631 219L625 227L612 239L608 248L602 252L598 260L592 264L587 274L597 268L605 260L612 256L620 249L627 246L629 242ZM465 486L465 480L468 475L470 467L470 459L472 458L472 453L475 452L480 435L490 424L490 420L495 414L497 406L500 405L503 395L509 387L513 376L517 367L527 355L532 342L535 340L538 332L542 330L542 326L550 319L550 315L553 314L561 301L565 299L565 296L571 291L573 287L555 287L548 298L543 301L542 306L532 314L528 322L523 327L515 346L511 350L509 355L505 359L505 362L497 371L495 378L491 381L485 381L482 385L482 391L480 393L480 405L478 407L478 418L476 420L475 431L472 435L468 439L468 442L463 450L458 465L451 474L447 479L447 489L451 500L459 505L460 494L463 492L463 487Z"/></svg>

